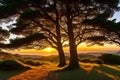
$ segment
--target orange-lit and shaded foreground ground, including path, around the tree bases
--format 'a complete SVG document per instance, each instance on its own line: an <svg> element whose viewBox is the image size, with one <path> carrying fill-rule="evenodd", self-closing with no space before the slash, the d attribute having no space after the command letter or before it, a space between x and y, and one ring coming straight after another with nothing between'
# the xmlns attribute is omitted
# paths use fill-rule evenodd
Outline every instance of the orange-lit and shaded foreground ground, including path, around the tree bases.
<svg viewBox="0 0 120 80"><path fill-rule="evenodd" d="M63 70L57 63L41 65L9 80L120 80L119 65L80 63L80 68Z"/></svg>

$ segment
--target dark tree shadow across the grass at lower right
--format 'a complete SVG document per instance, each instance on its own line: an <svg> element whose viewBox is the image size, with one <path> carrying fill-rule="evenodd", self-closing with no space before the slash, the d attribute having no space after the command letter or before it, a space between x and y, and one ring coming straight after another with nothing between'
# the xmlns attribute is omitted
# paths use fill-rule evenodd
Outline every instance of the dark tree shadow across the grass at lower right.
<svg viewBox="0 0 120 80"><path fill-rule="evenodd" d="M118 70L101 65L94 66L90 72L82 68L52 71L40 80L120 80L119 75Z"/></svg>

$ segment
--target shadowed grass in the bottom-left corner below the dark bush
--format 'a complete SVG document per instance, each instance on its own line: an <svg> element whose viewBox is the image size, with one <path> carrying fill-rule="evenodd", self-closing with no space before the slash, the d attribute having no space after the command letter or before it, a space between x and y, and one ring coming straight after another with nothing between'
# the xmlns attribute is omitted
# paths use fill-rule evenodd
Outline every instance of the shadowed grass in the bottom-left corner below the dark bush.
<svg viewBox="0 0 120 80"><path fill-rule="evenodd" d="M10 70L10 71L0 70L0 80L8 80L10 77L23 73L27 70L29 69Z"/></svg>

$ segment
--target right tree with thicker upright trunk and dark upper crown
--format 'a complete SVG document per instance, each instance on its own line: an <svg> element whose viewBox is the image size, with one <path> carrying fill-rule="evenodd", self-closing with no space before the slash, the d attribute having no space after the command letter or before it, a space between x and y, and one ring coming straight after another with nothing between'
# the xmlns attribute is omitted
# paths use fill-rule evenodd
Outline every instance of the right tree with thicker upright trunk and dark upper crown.
<svg viewBox="0 0 120 80"><path fill-rule="evenodd" d="M92 19L100 14L106 14L104 17L112 16L117 9L119 0L62 0L61 11L63 12L64 24L67 26L69 46L70 46L70 63L69 68L79 67L77 59L77 37L79 30L82 29L82 22L86 19ZM95 28L93 26L88 26ZM91 29L92 31L94 29ZM78 36L77 36L78 35ZM83 38L83 37L82 37ZM81 39L81 37L80 37ZM85 39L86 40L86 39ZM83 40L84 41L84 40Z"/></svg>

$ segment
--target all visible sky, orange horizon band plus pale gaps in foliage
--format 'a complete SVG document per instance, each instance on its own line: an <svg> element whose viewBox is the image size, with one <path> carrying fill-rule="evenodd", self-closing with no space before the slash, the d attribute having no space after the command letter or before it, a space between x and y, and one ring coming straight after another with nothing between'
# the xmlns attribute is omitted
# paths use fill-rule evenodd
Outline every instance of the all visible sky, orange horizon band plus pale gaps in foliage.
<svg viewBox="0 0 120 80"><path fill-rule="evenodd" d="M120 5L119 5L120 6ZM117 22L120 21L120 11L119 12L116 12L114 14L114 16L112 18L110 18L111 20L112 19L117 19ZM2 28L4 29L7 29L7 26L8 25L11 25L15 23L15 20L13 22L10 22L9 24L2 24L1 26L3 26ZM15 35L11 34L10 35L10 39L13 39L14 37L16 37ZM65 52L68 52L68 48L64 48ZM115 46L115 45L105 45L104 47L103 46L92 46L92 47L87 47L85 44L81 44L78 46L78 52L90 52L90 51L114 51L114 50L120 50L120 47L118 46ZM12 51L9 51L11 53L20 53L20 54L56 54L57 51L54 50L54 49L44 49L44 50L34 50L34 49L31 49L31 50L12 50Z"/></svg>

